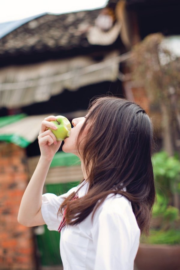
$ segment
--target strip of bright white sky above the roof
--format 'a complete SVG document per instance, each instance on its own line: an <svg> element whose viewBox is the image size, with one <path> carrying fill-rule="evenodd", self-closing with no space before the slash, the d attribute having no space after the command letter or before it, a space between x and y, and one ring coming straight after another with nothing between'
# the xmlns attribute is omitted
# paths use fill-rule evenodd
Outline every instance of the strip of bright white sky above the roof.
<svg viewBox="0 0 180 270"><path fill-rule="evenodd" d="M66 13L102 8L108 0L6 0L0 8L0 23L20 20L44 12Z"/></svg>

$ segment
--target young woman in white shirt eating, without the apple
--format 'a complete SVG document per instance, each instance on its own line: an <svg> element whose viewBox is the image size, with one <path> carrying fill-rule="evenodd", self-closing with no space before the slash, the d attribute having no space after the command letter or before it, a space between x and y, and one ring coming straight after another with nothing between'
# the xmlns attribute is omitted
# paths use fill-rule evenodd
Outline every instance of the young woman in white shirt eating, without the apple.
<svg viewBox="0 0 180 270"><path fill-rule="evenodd" d="M84 179L61 196L42 195L61 145L47 129L55 129L51 120L55 117L41 125L41 157L22 197L18 221L61 231L64 270L133 269L140 232L148 234L155 200L149 116L133 102L101 97L85 117L73 119L62 149L80 158Z"/></svg>

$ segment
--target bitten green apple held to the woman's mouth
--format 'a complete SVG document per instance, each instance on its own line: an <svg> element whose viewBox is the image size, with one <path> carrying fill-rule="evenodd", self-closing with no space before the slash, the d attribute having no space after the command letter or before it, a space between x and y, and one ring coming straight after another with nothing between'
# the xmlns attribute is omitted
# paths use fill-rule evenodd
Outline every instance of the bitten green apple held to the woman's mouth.
<svg viewBox="0 0 180 270"><path fill-rule="evenodd" d="M68 138L70 135L71 124L69 120L62 115L58 115L56 117L57 117L57 120L50 121L50 122L52 122L57 127L57 129L56 130L50 129L50 128L48 129L52 131L57 141L64 141L64 139Z"/></svg>

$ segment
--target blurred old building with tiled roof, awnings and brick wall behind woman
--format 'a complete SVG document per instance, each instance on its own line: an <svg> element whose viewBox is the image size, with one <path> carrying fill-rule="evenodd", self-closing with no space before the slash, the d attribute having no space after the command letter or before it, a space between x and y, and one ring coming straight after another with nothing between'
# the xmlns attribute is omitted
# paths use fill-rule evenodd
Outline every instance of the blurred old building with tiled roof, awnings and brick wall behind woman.
<svg viewBox="0 0 180 270"><path fill-rule="evenodd" d="M150 33L179 35L179 6L174 0L110 0L102 9L0 24L0 269L61 263L59 236L45 226L17 223L40 155L41 121L49 114L69 120L83 116L91 98L109 92L149 110L143 87L128 79L125 61L131 47ZM76 161L60 149L44 192L65 192L68 182L77 184L82 174Z"/></svg>

